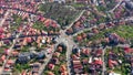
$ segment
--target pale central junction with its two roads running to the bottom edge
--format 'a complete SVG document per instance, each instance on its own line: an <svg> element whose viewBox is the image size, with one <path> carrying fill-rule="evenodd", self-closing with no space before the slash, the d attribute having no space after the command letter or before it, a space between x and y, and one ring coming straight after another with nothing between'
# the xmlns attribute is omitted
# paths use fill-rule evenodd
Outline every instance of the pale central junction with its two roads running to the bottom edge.
<svg viewBox="0 0 133 75"><path fill-rule="evenodd" d="M71 40L65 33L63 30L61 30L61 35L57 39L57 44L55 44L55 47L58 44L60 43L64 43L66 45L66 65L68 65L68 72L69 72L69 75L71 75L71 50L72 50L72 46L75 45L73 40ZM55 51L55 50L54 50ZM52 54L54 53L54 51L52 52ZM47 58L45 63L41 66L40 68L40 72L39 72L39 75L42 75L43 73L43 69L45 68L45 66L48 65L49 61L51 60L52 57L52 54Z"/></svg>

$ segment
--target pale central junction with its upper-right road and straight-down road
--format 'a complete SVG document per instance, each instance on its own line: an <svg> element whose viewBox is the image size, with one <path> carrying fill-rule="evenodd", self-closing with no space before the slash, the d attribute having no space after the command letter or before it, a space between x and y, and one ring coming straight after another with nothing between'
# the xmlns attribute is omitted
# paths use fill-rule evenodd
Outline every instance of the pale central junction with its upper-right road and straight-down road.
<svg viewBox="0 0 133 75"><path fill-rule="evenodd" d="M78 15L78 18L75 18L75 20L71 24L69 24L65 30L61 30L61 35L58 39L58 41L62 41L68 46L68 50L66 50L66 65L68 65L69 75L72 75L72 73L71 73L71 71L72 71L71 69L72 68L71 67L72 49L73 49L73 46L76 46L76 44L73 42L73 40L72 40L73 38L66 35L65 32L66 32L68 29L70 29L74 24L74 22L76 22L83 15L84 12L85 12L85 10L82 10L82 12Z"/></svg>

